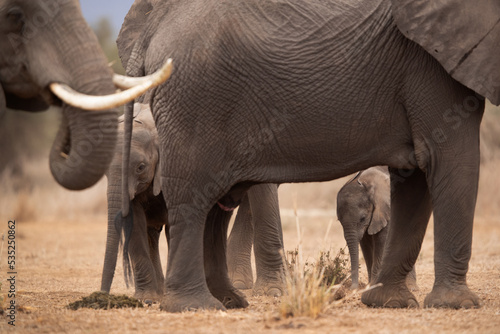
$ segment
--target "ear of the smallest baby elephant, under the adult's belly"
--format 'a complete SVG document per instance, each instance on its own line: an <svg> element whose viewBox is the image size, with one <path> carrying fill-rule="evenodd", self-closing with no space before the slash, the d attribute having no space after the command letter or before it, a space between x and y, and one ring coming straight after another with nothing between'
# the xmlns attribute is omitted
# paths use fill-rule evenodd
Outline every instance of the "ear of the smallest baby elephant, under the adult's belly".
<svg viewBox="0 0 500 334"><path fill-rule="evenodd" d="M368 234L380 232L391 220L391 186L389 175L380 171L378 167L365 170L359 181L368 191L368 196L373 204L373 214Z"/></svg>

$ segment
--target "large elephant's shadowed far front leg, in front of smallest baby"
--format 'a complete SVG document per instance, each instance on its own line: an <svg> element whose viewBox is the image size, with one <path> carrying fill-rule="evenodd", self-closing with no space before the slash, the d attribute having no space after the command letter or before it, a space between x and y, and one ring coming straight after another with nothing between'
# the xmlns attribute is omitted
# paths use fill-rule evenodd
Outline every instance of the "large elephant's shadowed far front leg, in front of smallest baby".
<svg viewBox="0 0 500 334"><path fill-rule="evenodd" d="M421 170L390 171L391 224L380 271L375 277L375 283L382 286L364 292L361 301L375 307L418 307L405 280L417 260L430 218L430 194ZM403 173L408 176L402 177Z"/></svg>

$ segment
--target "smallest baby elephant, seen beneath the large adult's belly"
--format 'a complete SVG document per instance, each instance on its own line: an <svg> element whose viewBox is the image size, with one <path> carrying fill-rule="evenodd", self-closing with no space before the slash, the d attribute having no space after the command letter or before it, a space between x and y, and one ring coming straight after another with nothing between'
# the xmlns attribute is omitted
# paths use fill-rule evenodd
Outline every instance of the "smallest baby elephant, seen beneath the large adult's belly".
<svg viewBox="0 0 500 334"><path fill-rule="evenodd" d="M371 283L382 261L391 220L391 189L387 167L372 167L349 180L337 195L337 217L344 228L344 237L351 257L352 289L359 284L359 253L363 257ZM411 290L417 290L413 268L406 278Z"/></svg>

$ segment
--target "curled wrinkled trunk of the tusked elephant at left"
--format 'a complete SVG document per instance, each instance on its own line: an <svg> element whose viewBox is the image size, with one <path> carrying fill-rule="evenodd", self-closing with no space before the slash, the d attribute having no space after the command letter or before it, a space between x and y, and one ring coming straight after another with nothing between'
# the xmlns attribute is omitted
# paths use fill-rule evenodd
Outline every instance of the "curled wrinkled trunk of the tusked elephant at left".
<svg viewBox="0 0 500 334"><path fill-rule="evenodd" d="M79 6L74 2L61 6L64 9L50 24L54 37L33 42L43 54L52 55L50 62L43 64L46 59L30 56L34 77L41 87L58 82L83 94L113 94L112 71L95 34L81 18ZM118 113L116 109L89 111L62 103L62 115L50 152L50 170L63 187L85 189L99 181L111 162Z"/></svg>

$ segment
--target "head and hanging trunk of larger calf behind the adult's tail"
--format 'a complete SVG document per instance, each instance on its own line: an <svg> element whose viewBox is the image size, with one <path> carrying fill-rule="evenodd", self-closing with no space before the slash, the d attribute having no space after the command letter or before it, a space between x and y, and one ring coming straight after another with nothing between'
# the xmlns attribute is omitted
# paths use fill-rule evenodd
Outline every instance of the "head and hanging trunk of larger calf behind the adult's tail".
<svg viewBox="0 0 500 334"><path fill-rule="evenodd" d="M130 162L127 172L128 194L133 201L138 195L147 191L153 185L154 196L161 192L160 171L158 167L158 134L154 124L153 116L148 105L136 103L134 105L134 130L132 133ZM120 199L122 189L122 165L123 153L122 142L124 138L123 116L118 121L118 145L116 146L113 159L106 171L108 179L108 235L106 241L106 254L104 259L101 290L109 292L116 267L120 233L124 230L124 269L128 281L130 266L128 261L128 238L131 226L115 226L115 217L120 210ZM118 220L120 222L120 220ZM137 223L137 222L135 222ZM128 236L128 237L127 237Z"/></svg>

